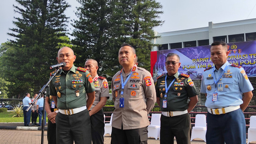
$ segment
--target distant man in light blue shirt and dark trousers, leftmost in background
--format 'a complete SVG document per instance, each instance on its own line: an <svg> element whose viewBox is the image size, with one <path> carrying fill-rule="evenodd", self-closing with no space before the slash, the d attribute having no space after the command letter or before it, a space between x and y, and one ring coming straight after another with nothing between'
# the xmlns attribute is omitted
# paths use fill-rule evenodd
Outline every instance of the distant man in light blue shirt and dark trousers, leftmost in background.
<svg viewBox="0 0 256 144"><path fill-rule="evenodd" d="M30 94L26 93L25 98L22 100L23 103L23 116L24 116L24 126L31 126L30 123L30 117L31 117L31 109L26 112L26 109L31 104Z"/></svg>

